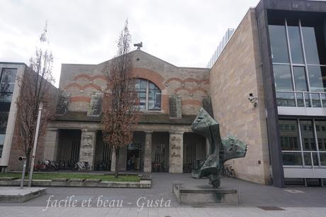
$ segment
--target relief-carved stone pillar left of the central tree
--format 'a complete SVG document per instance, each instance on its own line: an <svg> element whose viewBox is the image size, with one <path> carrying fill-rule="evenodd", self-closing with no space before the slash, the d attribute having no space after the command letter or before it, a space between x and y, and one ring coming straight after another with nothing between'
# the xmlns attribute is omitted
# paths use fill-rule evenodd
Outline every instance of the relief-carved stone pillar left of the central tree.
<svg viewBox="0 0 326 217"><path fill-rule="evenodd" d="M81 130L81 142L79 161L89 162L91 169L94 169L95 160L96 130Z"/></svg>

